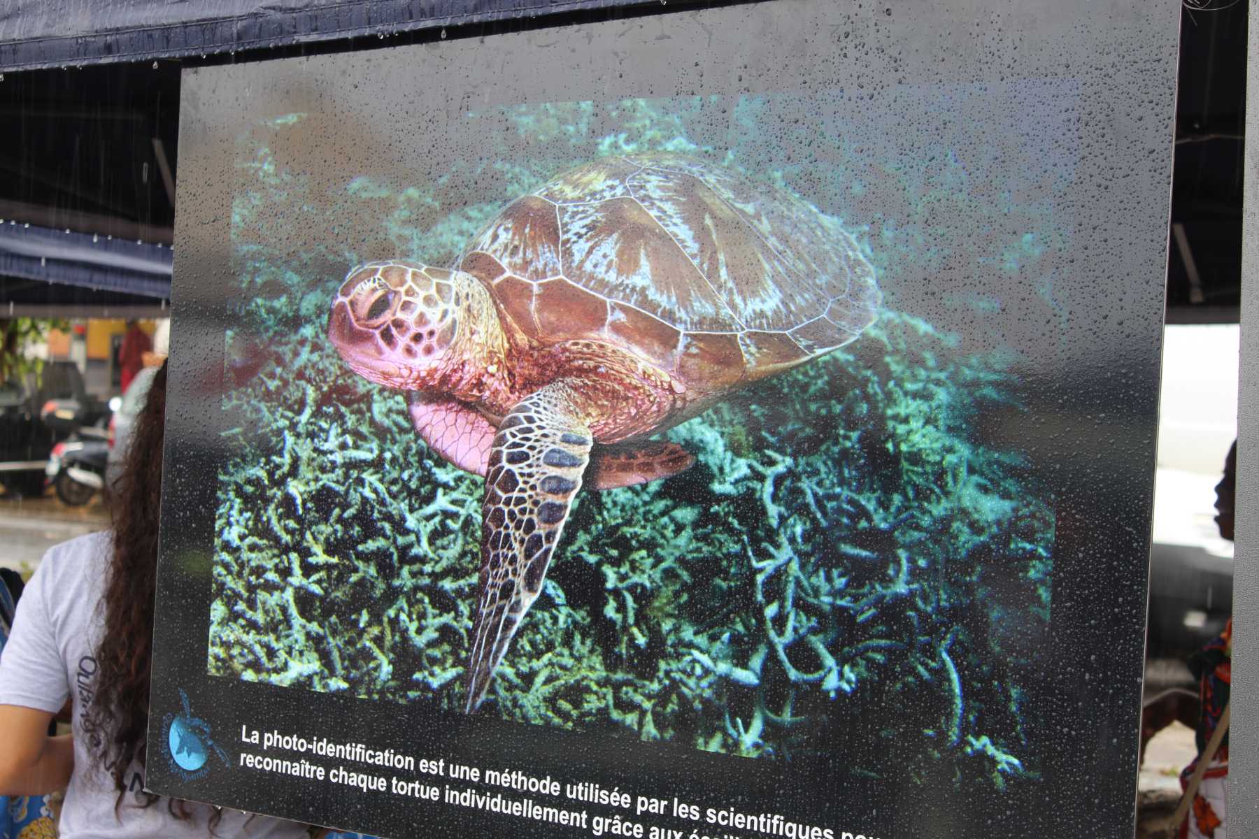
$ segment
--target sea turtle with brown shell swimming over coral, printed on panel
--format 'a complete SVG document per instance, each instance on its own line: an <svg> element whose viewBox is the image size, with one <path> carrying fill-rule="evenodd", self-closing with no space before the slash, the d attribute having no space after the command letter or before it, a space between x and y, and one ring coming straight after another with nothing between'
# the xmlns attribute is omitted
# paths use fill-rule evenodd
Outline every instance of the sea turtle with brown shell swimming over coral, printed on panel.
<svg viewBox="0 0 1259 839"><path fill-rule="evenodd" d="M647 438L847 343L879 303L835 220L679 155L563 172L452 268L354 268L331 342L409 391L424 442L486 478L466 711L538 597L583 479L607 489L686 469L691 454Z"/></svg>

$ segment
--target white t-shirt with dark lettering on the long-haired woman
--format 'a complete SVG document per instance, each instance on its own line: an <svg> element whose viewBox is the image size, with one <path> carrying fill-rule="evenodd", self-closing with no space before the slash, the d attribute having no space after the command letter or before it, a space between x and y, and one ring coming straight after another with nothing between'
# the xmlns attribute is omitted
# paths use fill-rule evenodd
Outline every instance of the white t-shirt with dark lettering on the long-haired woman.
<svg viewBox="0 0 1259 839"><path fill-rule="evenodd" d="M110 535L91 533L63 542L44 560L18 603L13 634L0 654L0 704L15 704L55 713L74 691L74 772L62 809L62 839L108 838L174 839L209 836L206 823L214 813L189 805L193 818L170 815L165 799L141 808L144 774L132 766L127 794L115 813L113 779L96 767L86 748L83 701L93 687L97 639L101 638L99 601L110 555ZM3 746L0 746L3 748ZM218 836L306 836L303 825L238 810L223 810L214 829Z"/></svg>

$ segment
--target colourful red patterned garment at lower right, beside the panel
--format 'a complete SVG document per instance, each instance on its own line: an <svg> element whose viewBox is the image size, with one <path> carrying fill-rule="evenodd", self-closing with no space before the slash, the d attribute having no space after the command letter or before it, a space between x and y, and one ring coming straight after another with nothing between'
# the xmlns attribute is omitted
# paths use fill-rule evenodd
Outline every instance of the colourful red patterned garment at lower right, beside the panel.
<svg viewBox="0 0 1259 839"><path fill-rule="evenodd" d="M1229 689L1233 683L1233 621L1224 633L1210 644L1195 653L1188 660L1190 670L1199 679L1199 696L1202 702L1202 716L1197 726L1197 753L1181 772L1181 789L1188 787L1190 777L1197 769L1206 745L1215 733L1224 708L1229 704ZM1228 786L1229 786L1229 735L1225 732L1219 751L1207 765L1202 782L1194 795L1194 806L1188 818L1181 825L1181 839L1228 839Z"/></svg>

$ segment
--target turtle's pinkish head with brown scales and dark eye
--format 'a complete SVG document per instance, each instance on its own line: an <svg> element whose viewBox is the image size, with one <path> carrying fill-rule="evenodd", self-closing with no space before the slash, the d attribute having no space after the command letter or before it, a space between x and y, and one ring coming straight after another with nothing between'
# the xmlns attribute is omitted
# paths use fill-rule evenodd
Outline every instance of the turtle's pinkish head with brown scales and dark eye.
<svg viewBox="0 0 1259 839"><path fill-rule="evenodd" d="M451 366L475 279L419 263L350 270L332 302L327 336L355 372L389 387L436 386Z"/></svg>

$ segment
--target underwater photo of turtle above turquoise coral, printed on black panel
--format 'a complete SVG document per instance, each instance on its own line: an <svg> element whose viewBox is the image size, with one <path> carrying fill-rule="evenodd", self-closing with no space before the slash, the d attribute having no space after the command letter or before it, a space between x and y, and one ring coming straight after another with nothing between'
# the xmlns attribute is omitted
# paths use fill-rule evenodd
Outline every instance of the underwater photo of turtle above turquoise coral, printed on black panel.
<svg viewBox="0 0 1259 839"><path fill-rule="evenodd" d="M846 102L412 136L349 96L239 132L206 672L1037 777L1055 518L993 312L1069 255L1044 206Z"/></svg>

